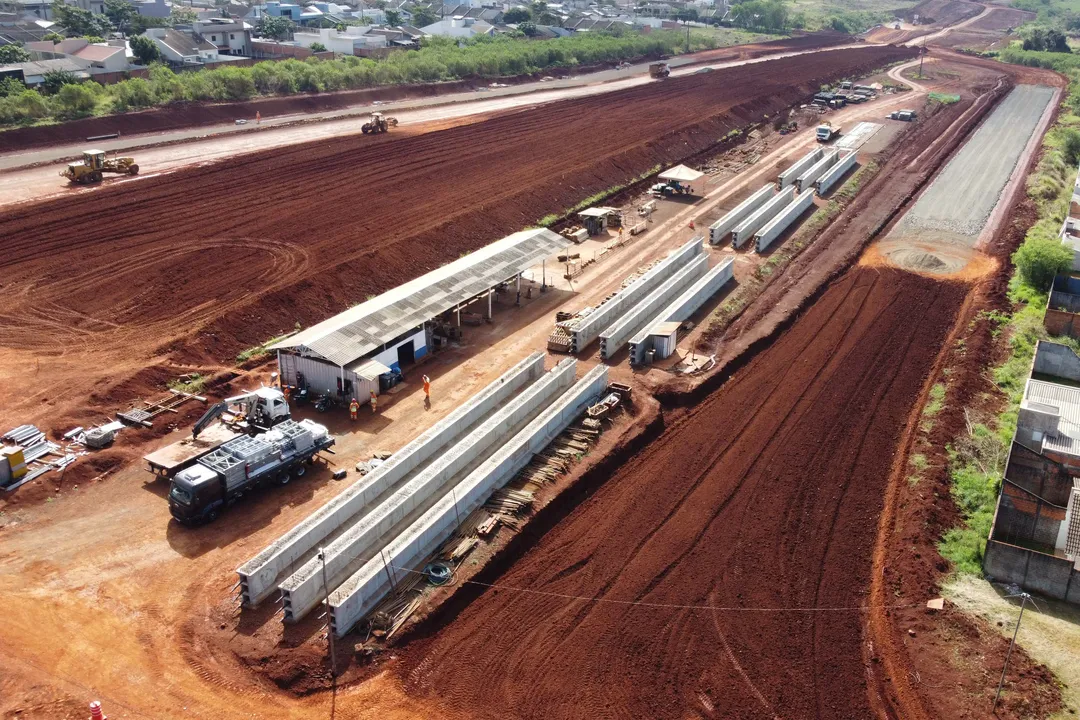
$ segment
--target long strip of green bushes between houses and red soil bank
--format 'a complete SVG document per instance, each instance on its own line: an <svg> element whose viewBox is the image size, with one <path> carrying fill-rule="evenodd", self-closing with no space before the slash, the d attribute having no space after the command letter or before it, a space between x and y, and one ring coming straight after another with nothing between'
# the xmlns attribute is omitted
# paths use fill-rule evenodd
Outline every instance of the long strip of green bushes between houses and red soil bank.
<svg viewBox="0 0 1080 720"><path fill-rule="evenodd" d="M690 50L716 47L721 41L718 39L720 36L712 32L693 32L690 37ZM746 36L728 31L723 38L734 41ZM673 55L683 52L685 43L685 33L677 30L621 37L575 35L554 40L480 37L461 45L449 38L433 38L426 41L420 50L391 53L380 60L360 57L291 59L197 72L173 72L164 66L152 66L149 79L133 78L105 87L86 82L83 83L83 91L68 91L63 99L56 99L55 94L59 85L71 82L58 83L57 87L46 92L50 97L25 89L8 93L0 97L0 124L108 114L192 100L244 100L256 95L323 93L460 78L497 78L555 67ZM73 82L73 78L70 80ZM72 101L72 95L78 95L78 101Z"/></svg>

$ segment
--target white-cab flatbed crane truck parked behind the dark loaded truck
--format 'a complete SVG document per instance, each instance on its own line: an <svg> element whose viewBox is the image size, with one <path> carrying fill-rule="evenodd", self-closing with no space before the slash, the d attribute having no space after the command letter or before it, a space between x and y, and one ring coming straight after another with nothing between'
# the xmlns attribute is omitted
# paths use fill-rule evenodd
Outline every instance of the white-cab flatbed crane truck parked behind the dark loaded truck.
<svg viewBox="0 0 1080 720"><path fill-rule="evenodd" d="M191 429L191 437L146 456L149 471L171 479L197 460L241 435L257 435L292 418L285 395L276 388L259 388L227 397L212 406Z"/></svg>

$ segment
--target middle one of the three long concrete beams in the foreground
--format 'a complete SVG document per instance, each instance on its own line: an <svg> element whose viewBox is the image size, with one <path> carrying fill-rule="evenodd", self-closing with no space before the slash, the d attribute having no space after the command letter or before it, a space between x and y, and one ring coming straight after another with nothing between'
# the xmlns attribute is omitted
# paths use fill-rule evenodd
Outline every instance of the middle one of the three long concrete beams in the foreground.
<svg viewBox="0 0 1080 720"><path fill-rule="evenodd" d="M379 549L380 539L402 522L409 513L445 491L447 484L474 464L529 418L548 407L573 384L577 361L564 359L551 372L510 400L464 439L444 450L437 460L416 474L377 506L370 508L324 548L326 579L330 587L355 569L354 561L365 561ZM312 558L281 584L286 623L302 619L319 604L323 587L323 563Z"/></svg>

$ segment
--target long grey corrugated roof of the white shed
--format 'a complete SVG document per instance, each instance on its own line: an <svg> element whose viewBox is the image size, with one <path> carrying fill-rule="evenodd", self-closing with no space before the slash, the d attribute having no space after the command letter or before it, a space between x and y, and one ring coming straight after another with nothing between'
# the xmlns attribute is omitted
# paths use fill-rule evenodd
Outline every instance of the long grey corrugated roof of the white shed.
<svg viewBox="0 0 1080 720"><path fill-rule="evenodd" d="M528 270L565 247L551 230L524 230L350 308L271 347L306 348L346 366L406 330Z"/></svg>

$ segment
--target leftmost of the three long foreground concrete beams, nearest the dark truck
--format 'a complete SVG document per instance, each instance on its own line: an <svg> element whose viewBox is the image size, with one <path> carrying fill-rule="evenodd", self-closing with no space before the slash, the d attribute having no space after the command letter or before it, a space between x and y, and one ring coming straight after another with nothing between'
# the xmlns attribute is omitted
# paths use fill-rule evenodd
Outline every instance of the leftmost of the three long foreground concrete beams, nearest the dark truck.
<svg viewBox="0 0 1080 720"><path fill-rule="evenodd" d="M237 573L240 575L244 604L254 608L265 600L274 590L279 580L319 543L527 383L543 375L543 353L532 353L526 357L241 566Z"/></svg>

